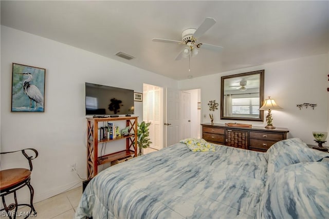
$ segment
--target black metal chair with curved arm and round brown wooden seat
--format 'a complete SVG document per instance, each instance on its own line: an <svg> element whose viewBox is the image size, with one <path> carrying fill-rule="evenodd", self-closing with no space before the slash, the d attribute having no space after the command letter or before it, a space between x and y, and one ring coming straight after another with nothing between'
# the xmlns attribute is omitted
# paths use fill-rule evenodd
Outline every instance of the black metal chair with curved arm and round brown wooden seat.
<svg viewBox="0 0 329 219"><path fill-rule="evenodd" d="M35 155L29 156L25 153L25 150L32 150ZM33 215L36 215L36 211L33 207L33 195L34 195L34 189L30 184L31 181L31 173L32 173L32 160L35 159L38 156L38 151L33 148L26 148L22 151L23 155L27 158L29 161L30 169L25 168L14 168L14 169L7 169L7 170L1 170L0 171L0 190L1 190L1 198L2 203L4 205L4 208L0 211L5 210L7 212L7 216L11 219L12 215L13 218L16 218L17 209L19 206L28 206L31 208L31 211L29 214L26 215L25 218L32 215L32 211L34 212ZM0 154L6 154L6 153L14 153L18 151L11 151L11 152L1 152ZM16 191L23 188L24 186L27 186L30 190L30 204L17 204L17 198L16 198ZM10 204L9 206L6 205L5 202L5 196L8 194L14 193L14 200L15 203ZM15 208L14 211L11 211ZM11 212L9 212L11 211Z"/></svg>

